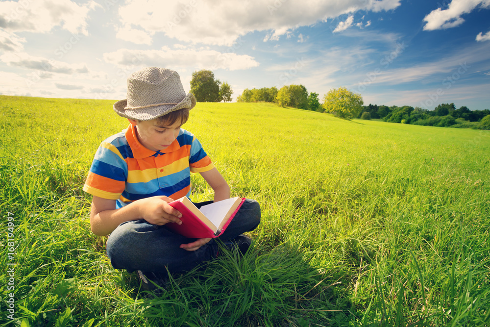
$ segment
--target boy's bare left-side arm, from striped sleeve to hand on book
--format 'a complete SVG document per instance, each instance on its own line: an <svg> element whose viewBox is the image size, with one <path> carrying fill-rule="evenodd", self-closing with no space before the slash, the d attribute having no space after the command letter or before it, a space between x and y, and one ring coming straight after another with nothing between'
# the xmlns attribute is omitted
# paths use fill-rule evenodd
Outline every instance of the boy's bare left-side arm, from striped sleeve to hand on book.
<svg viewBox="0 0 490 327"><path fill-rule="evenodd" d="M108 200L94 196L90 211L90 228L99 236L110 234L120 224L145 219L153 225L164 225L170 222L182 224L182 214L172 208L168 202L173 200L165 196L157 196L137 200L116 209L116 200Z"/></svg>

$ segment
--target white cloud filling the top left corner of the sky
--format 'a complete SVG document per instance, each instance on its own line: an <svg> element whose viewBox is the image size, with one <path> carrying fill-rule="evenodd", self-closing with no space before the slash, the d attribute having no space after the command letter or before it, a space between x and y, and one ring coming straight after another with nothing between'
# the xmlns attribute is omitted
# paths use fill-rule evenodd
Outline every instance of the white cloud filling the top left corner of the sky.
<svg viewBox="0 0 490 327"><path fill-rule="evenodd" d="M95 1L78 5L71 0L23 0L0 2L0 27L14 32L49 32L60 26L88 35L88 12L100 7Z"/></svg>

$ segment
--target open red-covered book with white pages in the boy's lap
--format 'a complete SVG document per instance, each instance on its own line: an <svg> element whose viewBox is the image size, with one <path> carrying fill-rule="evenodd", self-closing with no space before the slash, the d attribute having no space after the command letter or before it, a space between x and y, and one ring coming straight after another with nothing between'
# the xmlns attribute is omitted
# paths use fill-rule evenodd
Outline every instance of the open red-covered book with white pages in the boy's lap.
<svg viewBox="0 0 490 327"><path fill-rule="evenodd" d="M215 238L229 225L245 199L239 197L213 202L199 209L187 197L182 197L169 204L180 211L182 225L166 224L170 230L191 238Z"/></svg>

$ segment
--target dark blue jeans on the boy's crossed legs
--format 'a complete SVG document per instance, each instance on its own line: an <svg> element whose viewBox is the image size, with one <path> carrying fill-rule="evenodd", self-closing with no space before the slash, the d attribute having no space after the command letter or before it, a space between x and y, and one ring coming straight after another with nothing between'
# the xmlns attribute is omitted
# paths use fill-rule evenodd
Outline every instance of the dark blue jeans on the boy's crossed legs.
<svg viewBox="0 0 490 327"><path fill-rule="evenodd" d="M211 202L196 203L196 206L199 208ZM219 239L223 242L232 240L245 231L254 230L259 223L259 203L247 199ZM116 269L126 269L130 273L135 270L158 273L168 268L171 273L179 273L216 258L218 254L215 239L196 251L179 248L181 244L195 240L173 233L165 225L151 225L141 219L119 225L109 235L106 248L111 264Z"/></svg>

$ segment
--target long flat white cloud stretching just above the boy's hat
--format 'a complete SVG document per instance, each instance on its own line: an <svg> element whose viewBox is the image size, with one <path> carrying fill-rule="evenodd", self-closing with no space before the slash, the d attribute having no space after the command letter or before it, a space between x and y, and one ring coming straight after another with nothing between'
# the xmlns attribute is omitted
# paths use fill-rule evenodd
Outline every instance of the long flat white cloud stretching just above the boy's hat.
<svg viewBox="0 0 490 327"><path fill-rule="evenodd" d="M197 67L199 69L241 70L257 67L259 63L246 54L221 53L216 50L129 50L120 49L104 53L104 60L115 65L143 65L166 67Z"/></svg>

